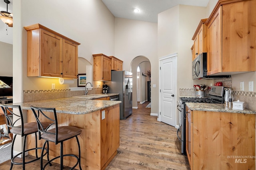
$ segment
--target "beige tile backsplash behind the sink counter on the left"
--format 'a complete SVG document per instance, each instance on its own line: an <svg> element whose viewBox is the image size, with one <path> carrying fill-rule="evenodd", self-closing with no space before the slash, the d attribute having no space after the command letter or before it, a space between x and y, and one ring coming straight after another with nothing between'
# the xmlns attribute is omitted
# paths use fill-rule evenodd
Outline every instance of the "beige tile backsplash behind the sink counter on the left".
<svg viewBox="0 0 256 170"><path fill-rule="evenodd" d="M53 89L53 90L23 90L23 102L31 102L37 100L57 99L57 98L69 98L72 96L82 96L85 90L70 89ZM102 88L93 88L88 91L88 94L100 94Z"/></svg>

